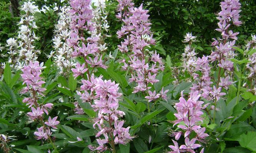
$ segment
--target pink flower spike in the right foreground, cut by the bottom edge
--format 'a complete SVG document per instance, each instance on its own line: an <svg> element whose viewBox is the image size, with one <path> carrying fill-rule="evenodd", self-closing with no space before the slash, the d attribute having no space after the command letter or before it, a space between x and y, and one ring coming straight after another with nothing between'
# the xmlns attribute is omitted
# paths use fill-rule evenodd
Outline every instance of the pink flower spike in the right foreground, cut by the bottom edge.
<svg viewBox="0 0 256 153"><path fill-rule="evenodd" d="M169 147L172 149L172 151L169 151L168 153L179 153L179 152L190 152L194 153L194 149L200 147L200 144L195 143L198 142L206 142L206 137L209 135L205 133L205 127L201 127L200 124L203 122L202 115L203 112L201 111L203 101L200 101L200 94L198 94L198 91L195 91L193 93L190 93L190 96L188 100L183 98L183 94L181 94L181 97L179 99L179 103L175 104L175 108L177 110L177 113L174 114L174 116L177 118L177 120L172 121L174 125L177 125L178 129L177 131L172 131L170 136L175 137L175 140L179 140L180 136L184 134L185 137L185 145L178 146L178 143L174 140L174 146L170 145ZM185 125L180 124L181 122L184 122ZM195 137L191 137L190 133L195 132ZM202 149L203 150L203 149Z"/></svg>

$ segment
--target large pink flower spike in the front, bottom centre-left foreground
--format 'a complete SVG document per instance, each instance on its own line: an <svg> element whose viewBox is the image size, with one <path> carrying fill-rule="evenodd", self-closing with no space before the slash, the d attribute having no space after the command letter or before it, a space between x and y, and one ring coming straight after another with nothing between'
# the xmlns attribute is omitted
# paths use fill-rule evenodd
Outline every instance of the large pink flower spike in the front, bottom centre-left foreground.
<svg viewBox="0 0 256 153"><path fill-rule="evenodd" d="M133 137L129 134L130 127L124 128L124 121L119 119L125 115L118 110L118 99L122 96L118 92L119 84L111 80L102 80L102 77L94 78L93 74L91 80L82 80L82 83L78 95L84 103L91 104L94 111L98 112L97 117L93 119L93 127L99 130L96 134L99 146L90 145L89 148L102 152L107 150L107 145L104 145L106 143L110 143L112 149L114 144L128 143ZM104 139L99 138L101 135Z"/></svg>

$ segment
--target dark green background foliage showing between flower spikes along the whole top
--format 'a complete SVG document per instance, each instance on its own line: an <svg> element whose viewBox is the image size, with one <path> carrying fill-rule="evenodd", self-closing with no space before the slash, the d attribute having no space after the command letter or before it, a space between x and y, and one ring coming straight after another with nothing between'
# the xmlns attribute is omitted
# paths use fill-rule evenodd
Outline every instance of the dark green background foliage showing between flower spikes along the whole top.
<svg viewBox="0 0 256 153"><path fill-rule="evenodd" d="M66 1L68 2L68 1ZM57 22L57 13L59 10L54 11L54 7L60 8L61 3L58 0L44 1L35 0L36 5L41 9L44 6L50 7L51 11L46 13L37 13L36 23L38 31L37 36L40 41L37 42L37 49L42 50L42 53L49 54L52 48L51 39L53 36L54 25ZM173 62L177 62L180 54L183 52L183 36L187 32L192 32L198 37L196 51L203 54L210 53L210 42L212 38L219 37L219 33L214 31L217 25L216 13L220 10L220 0L135 0L135 6L144 4L144 8L149 10L150 20L152 21L152 28L155 31L154 36L156 39L161 40L155 49L162 54L162 56L170 55L177 57ZM253 0L241 1L241 21L243 25L236 28L238 31L238 43L244 43L244 39L250 34L255 34L256 28L256 2ZM120 41L116 39L117 29L121 27L120 21L116 19L116 6L115 0L107 2L106 11L109 12L107 20L110 25L110 34L112 37L106 40L110 45L109 51L113 51ZM10 13L9 7L11 3L8 0L0 2L0 43L2 46L6 43L9 37L15 36L17 31L17 23L19 17L13 17ZM15 15L17 16L17 15ZM45 54L41 54L40 61L45 61ZM3 59L1 60L3 61Z"/></svg>

